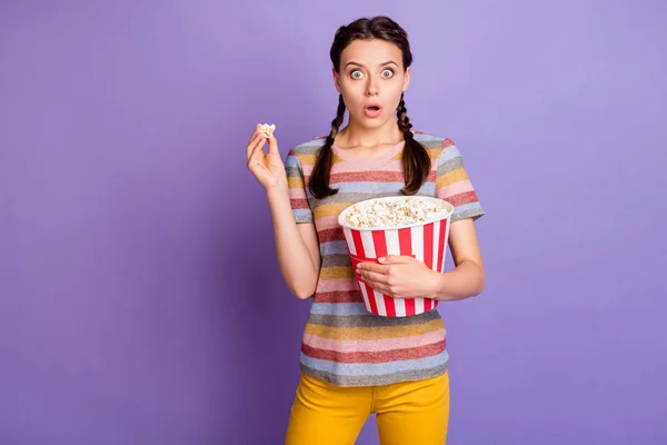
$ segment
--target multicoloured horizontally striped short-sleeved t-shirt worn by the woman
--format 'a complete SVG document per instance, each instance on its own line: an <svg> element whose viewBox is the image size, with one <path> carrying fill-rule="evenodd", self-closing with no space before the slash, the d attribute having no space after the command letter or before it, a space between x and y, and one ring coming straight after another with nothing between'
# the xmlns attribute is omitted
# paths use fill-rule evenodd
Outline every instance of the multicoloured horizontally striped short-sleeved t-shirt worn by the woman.
<svg viewBox="0 0 667 445"><path fill-rule="evenodd" d="M380 158L350 159L334 146L330 186L338 192L316 199L308 181L323 137L290 150L286 159L290 202L297 222L313 222L321 267L301 344L301 370L338 386L376 386L444 374L449 355L440 314L409 317L369 313L355 279L338 215L365 199L400 196L405 186L399 142ZM431 158L431 170L417 195L436 196L455 206L451 222L485 214L449 139L419 131Z"/></svg>

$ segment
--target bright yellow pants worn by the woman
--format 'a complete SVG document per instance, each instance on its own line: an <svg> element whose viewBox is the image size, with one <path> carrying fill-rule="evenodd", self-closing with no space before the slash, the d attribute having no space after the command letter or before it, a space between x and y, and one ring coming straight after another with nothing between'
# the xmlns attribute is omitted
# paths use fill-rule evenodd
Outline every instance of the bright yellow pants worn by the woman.
<svg viewBox="0 0 667 445"><path fill-rule="evenodd" d="M449 375L386 386L338 387L301 375L286 445L354 445L371 413L381 445L444 445Z"/></svg>

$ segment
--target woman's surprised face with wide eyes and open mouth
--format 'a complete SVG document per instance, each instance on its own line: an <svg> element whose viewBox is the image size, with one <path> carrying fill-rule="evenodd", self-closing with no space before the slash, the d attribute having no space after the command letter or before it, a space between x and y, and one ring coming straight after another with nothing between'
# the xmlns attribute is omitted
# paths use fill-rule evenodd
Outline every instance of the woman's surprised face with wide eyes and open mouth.
<svg viewBox="0 0 667 445"><path fill-rule="evenodd" d="M404 70L402 53L396 44L355 40L340 55L339 69L334 70L334 80L350 122L378 128L396 119L400 96L410 82L410 68Z"/></svg>

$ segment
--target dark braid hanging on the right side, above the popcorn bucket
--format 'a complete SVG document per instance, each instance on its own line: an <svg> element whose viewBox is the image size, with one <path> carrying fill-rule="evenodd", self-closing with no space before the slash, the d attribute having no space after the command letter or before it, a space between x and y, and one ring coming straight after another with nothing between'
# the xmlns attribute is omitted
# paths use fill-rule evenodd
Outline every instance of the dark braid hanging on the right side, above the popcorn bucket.
<svg viewBox="0 0 667 445"><path fill-rule="evenodd" d="M406 140L402 155L406 186L400 191L405 195L415 195L428 178L431 161L426 148L415 140L415 135L411 130L412 125L408 118L408 109L406 108L402 93L400 95L400 102L397 108L397 120L398 128L404 134L404 139Z"/></svg>

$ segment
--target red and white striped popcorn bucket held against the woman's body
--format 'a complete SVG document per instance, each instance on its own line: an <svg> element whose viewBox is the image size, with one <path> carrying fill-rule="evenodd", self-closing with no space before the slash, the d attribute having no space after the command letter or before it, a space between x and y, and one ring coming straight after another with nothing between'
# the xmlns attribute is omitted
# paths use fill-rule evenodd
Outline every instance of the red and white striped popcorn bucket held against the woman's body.
<svg viewBox="0 0 667 445"><path fill-rule="evenodd" d="M387 255L402 255L424 261L432 270L444 271L449 239L449 219L454 212L454 206L439 198L424 196L418 198L447 208L448 211L440 219L426 224L418 222L382 229L350 227L346 224L346 218L347 214L352 211L354 206L342 210L338 216L338 224L342 227L354 270L361 261L378 263L378 258ZM406 199L405 196L376 198L357 205L404 199ZM424 314L438 306L438 300L431 298L394 298L375 290L360 276L356 275L356 277L366 308L372 314L385 317L406 317Z"/></svg>

